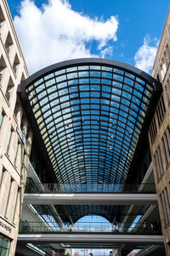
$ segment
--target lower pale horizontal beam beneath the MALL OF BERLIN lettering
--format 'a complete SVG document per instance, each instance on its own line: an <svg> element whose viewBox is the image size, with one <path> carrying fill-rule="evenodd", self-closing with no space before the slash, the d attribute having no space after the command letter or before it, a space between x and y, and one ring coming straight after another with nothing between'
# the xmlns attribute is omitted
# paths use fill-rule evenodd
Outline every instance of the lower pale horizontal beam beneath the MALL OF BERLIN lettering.
<svg viewBox="0 0 170 256"><path fill-rule="evenodd" d="M111 243L111 244L163 244L163 236L159 235L121 235L105 233L54 233L54 234L21 234L21 242L69 242L69 243Z"/></svg>

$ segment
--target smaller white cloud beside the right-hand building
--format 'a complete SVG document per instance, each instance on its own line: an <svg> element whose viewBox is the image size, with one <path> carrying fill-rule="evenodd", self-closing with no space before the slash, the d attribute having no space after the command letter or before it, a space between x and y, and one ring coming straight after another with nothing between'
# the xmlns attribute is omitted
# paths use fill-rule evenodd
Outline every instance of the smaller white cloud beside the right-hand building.
<svg viewBox="0 0 170 256"><path fill-rule="evenodd" d="M153 45L150 45L151 43ZM144 38L143 45L134 56L135 67L139 67L141 70L150 73L155 61L158 43L156 38L152 42L148 35Z"/></svg>

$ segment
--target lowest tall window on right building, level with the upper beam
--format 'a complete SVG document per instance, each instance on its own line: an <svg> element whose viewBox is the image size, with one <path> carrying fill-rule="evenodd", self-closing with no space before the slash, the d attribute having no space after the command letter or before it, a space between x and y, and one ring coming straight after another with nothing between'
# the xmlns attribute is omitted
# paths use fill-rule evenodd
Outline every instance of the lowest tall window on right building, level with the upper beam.
<svg viewBox="0 0 170 256"><path fill-rule="evenodd" d="M170 206L169 206L169 198L167 195L167 188L163 189L160 195L161 198L161 206L163 208L164 215L164 224L170 223Z"/></svg>

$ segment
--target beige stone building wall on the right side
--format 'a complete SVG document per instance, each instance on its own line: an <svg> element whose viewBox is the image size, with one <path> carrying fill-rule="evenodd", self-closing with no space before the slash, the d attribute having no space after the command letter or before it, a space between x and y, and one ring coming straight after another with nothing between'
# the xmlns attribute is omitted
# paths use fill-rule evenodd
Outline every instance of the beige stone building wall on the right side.
<svg viewBox="0 0 170 256"><path fill-rule="evenodd" d="M167 255L170 255L170 9L161 35L152 76L160 79L163 92L150 125L150 150L156 179L161 226ZM163 102L165 104L165 111ZM154 128L155 126L155 128Z"/></svg>

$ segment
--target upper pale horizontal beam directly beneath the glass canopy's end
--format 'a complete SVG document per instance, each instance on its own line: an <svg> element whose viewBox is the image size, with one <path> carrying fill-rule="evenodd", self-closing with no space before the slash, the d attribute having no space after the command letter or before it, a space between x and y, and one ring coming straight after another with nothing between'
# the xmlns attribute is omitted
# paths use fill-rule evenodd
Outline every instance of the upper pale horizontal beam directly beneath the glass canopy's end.
<svg viewBox="0 0 170 256"><path fill-rule="evenodd" d="M157 205L156 194L55 193L25 194L31 205Z"/></svg>

